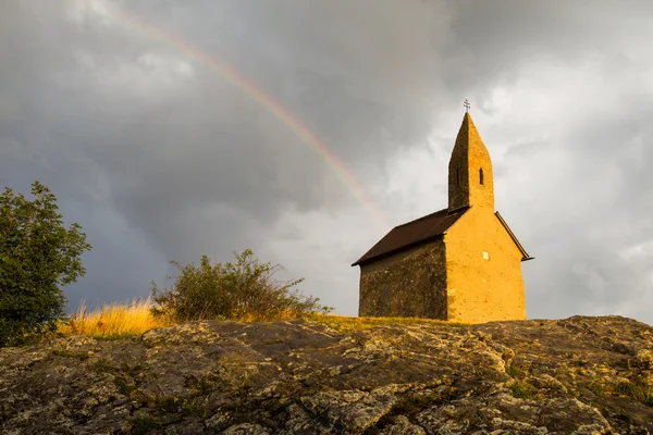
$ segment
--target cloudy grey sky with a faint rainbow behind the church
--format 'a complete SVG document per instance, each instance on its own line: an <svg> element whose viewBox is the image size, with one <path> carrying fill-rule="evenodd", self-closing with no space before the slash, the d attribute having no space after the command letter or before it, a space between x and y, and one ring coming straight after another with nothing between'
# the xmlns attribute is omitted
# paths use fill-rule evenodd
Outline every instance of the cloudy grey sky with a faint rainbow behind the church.
<svg viewBox="0 0 653 435"><path fill-rule="evenodd" d="M356 315L350 264L447 206L468 99L529 319L653 324L653 2L0 0L0 188L93 250L69 310L252 249Z"/></svg>

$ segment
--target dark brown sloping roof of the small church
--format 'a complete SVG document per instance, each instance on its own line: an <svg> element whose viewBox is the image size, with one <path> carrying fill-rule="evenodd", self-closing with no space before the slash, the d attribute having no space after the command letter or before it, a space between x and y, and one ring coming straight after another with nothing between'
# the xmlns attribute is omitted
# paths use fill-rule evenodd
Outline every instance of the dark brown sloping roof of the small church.
<svg viewBox="0 0 653 435"><path fill-rule="evenodd" d="M447 231L469 207L464 207L452 212L448 209L436 211L423 217L395 226L377 245L366 252L354 265L367 263L372 259L385 257L392 252L420 245L441 236Z"/></svg>

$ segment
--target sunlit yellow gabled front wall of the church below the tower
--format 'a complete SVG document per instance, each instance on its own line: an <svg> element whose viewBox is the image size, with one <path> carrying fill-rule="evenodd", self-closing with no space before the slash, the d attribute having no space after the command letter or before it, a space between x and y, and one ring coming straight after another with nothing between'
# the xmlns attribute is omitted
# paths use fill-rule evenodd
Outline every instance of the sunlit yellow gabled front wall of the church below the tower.
<svg viewBox="0 0 653 435"><path fill-rule="evenodd" d="M491 208L472 206L444 244L449 321L526 319L522 254Z"/></svg>

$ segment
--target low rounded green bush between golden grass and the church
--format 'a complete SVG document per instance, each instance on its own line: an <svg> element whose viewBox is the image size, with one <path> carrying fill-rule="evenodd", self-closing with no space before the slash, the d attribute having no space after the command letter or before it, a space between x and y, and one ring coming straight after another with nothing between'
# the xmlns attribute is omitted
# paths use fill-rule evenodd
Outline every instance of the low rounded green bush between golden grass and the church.
<svg viewBox="0 0 653 435"><path fill-rule="evenodd" d="M319 299L304 297L293 287L304 279L275 282L272 275L279 264L259 263L251 250L234 252L235 263L211 265L207 256L198 268L182 266L171 289L159 290L152 281L152 308L156 316L165 315L177 322L201 319L272 321L309 313L326 313L332 309L320 306ZM172 278L168 276L168 278Z"/></svg>

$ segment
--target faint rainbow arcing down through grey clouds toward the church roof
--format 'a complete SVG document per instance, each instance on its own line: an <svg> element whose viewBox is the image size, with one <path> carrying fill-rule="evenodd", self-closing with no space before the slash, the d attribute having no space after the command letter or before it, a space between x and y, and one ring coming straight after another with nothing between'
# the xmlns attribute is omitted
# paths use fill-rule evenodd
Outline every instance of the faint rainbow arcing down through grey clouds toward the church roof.
<svg viewBox="0 0 653 435"><path fill-rule="evenodd" d="M85 3L88 0L76 1ZM202 64L218 72L227 82L236 86L241 91L264 108L270 114L282 122L304 144L308 145L310 149L326 163L326 165L335 173L343 185L345 185L345 187L350 190L354 197L370 212L381 227L384 229L389 229L391 227L384 215L375 207L374 202L365 191L360 183L354 177L352 172L347 170L344 162L338 159L338 157L326 144L320 140L305 124L303 124L299 119L297 119L287 109L275 101L269 94L264 92L256 84L238 74L235 70L221 62L214 55L202 51L197 46L194 46L181 37L164 29L158 28L143 18L118 8L115 4L109 4L108 2L102 2L101 4L103 12L112 16L114 20L143 32L153 39L162 40L185 55L201 62Z"/></svg>

